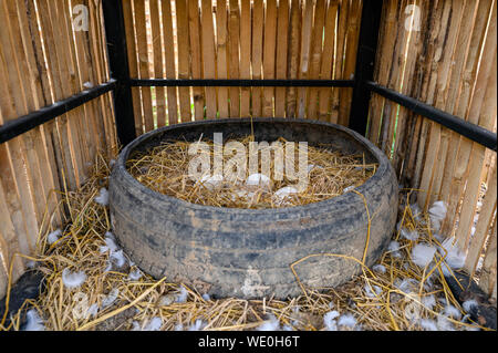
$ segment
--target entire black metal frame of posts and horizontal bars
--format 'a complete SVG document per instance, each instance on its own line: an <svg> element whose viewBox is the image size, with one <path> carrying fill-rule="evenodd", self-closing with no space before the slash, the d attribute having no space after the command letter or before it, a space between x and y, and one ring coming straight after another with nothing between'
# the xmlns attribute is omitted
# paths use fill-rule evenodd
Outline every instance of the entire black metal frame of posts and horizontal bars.
<svg viewBox="0 0 498 353"><path fill-rule="evenodd" d="M350 128L362 135L374 92L496 152L497 134L372 81L382 7L383 0L363 1L354 80L138 80L129 77L121 0L103 0L112 80L0 126L0 144L112 91L117 136L126 145L136 137L132 86L319 86L353 89Z"/></svg>

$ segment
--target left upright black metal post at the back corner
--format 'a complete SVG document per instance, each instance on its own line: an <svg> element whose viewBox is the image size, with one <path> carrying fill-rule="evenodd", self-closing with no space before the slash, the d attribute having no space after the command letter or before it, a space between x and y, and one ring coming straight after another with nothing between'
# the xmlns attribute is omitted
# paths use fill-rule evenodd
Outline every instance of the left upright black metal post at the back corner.
<svg viewBox="0 0 498 353"><path fill-rule="evenodd" d="M125 146L135 137L135 118L133 115L132 87L129 85L128 53L122 0L102 2L107 40L107 53L111 77L117 80L114 91L114 114L117 138Z"/></svg>

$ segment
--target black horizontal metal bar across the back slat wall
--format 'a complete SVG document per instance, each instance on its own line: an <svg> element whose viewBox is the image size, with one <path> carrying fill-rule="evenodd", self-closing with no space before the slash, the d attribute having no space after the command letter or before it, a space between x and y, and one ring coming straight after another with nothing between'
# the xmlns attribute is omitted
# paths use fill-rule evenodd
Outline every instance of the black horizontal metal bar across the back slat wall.
<svg viewBox="0 0 498 353"><path fill-rule="evenodd" d="M132 79L129 84L139 86L204 86L204 87L353 87L353 80L168 80Z"/></svg>

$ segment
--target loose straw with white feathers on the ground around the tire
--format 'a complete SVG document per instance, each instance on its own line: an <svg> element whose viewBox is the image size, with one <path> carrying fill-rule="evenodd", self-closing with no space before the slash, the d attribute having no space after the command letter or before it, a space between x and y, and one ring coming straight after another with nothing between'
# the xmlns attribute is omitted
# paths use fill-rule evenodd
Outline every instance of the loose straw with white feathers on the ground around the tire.
<svg viewBox="0 0 498 353"><path fill-rule="evenodd" d="M106 236L112 231L108 208L95 203L106 186L110 167L98 157L94 169L79 191L61 193L61 207L70 217L59 240L50 245L48 237L54 229L48 229L39 235L37 255L23 256L44 273L43 292L37 300L25 301L8 325L6 315L0 313L1 329L22 329L27 312L31 321L38 316L34 328L44 330L418 331L423 330L422 320L426 320L425 328L432 322L433 329L440 330L479 329L464 316L445 281L444 255L436 252L435 266L421 268L413 262L412 250L417 243L439 241L428 226L428 215L415 214L408 203L393 236L398 247L386 251L376 267L363 266L362 273L341 288L303 288L302 295L288 301L210 299L167 278L155 280L139 272L126 256L124 263L117 266L120 261L113 260L112 255L120 250L110 250L112 237ZM416 230L418 238L402 237L402 229ZM289 263L289 271L293 266ZM84 273L77 288L66 287L68 269ZM426 300L432 295L433 304ZM455 310L448 311L448 305Z"/></svg>

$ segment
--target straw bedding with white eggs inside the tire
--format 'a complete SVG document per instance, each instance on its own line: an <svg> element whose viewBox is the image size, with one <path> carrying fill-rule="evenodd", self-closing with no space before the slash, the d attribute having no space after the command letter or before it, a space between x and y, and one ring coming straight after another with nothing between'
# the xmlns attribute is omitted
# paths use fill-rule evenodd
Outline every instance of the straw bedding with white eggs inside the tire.
<svg viewBox="0 0 498 353"><path fill-rule="evenodd" d="M250 150L249 143L252 141L250 136L230 139L227 143L235 141L240 142L246 150ZM204 142L210 147L209 158L214 160L214 143ZM278 142L282 146L287 143L283 138L279 138ZM189 177L188 173L188 165L193 158L188 155L189 146L187 142L164 142L151 150L133 156L127 162L127 169L148 188L193 204L229 208L279 208L318 203L342 195L362 185L375 174L377 167L376 164L365 164L362 155L343 155L332 150L328 145L321 145L308 147L308 165L304 166L308 184L302 190L293 187L297 179L295 177L293 180L289 179L286 164L280 172L283 177L276 180L278 179L274 177L276 158L270 158L269 173L262 172L261 157L258 158L258 173L250 175L249 168L246 168L243 177L229 180L221 174L208 170L201 178L195 179ZM272 153L270 148L263 147L261 155L264 149ZM295 173L299 170L298 149L295 144L293 158ZM225 154L222 165L229 164L230 158L231 155ZM249 156L246 158L248 166ZM260 178L268 177L268 183L261 179L258 185L248 185L248 178L258 177L258 174Z"/></svg>

